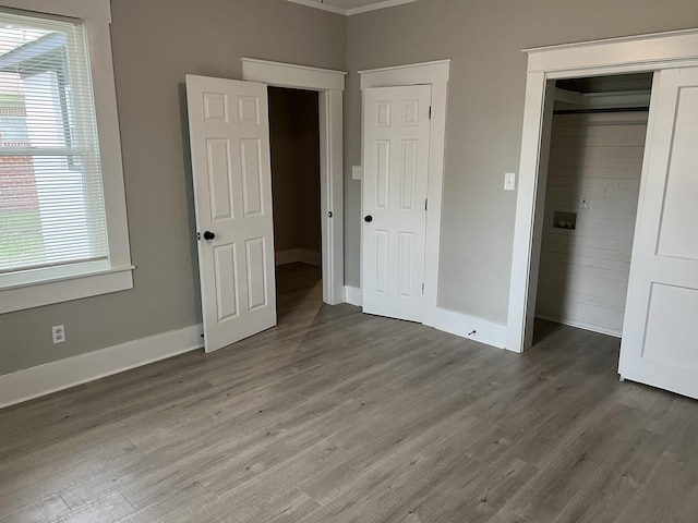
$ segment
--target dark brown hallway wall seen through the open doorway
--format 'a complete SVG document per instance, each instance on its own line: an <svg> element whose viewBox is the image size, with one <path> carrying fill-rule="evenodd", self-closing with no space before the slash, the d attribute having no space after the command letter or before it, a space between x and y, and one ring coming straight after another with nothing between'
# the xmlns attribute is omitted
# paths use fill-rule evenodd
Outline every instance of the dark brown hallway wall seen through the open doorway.
<svg viewBox="0 0 698 523"><path fill-rule="evenodd" d="M320 253L318 95L279 87L268 90L274 250Z"/></svg>

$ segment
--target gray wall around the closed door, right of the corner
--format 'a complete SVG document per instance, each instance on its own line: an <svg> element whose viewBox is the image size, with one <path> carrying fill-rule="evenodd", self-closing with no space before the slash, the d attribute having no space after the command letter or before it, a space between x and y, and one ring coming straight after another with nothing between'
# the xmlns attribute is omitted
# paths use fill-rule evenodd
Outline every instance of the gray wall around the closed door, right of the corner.
<svg viewBox="0 0 698 523"><path fill-rule="evenodd" d="M506 323L526 56L521 49L698 26L695 0L420 0L349 19L346 172L361 162L357 71L452 58L438 303ZM346 179L347 284L359 285L360 182Z"/></svg>

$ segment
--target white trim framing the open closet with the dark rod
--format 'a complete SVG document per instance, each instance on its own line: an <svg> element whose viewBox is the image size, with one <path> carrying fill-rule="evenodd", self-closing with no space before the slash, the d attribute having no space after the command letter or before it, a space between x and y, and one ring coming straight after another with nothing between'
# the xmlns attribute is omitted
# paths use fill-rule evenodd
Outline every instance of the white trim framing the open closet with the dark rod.
<svg viewBox="0 0 698 523"><path fill-rule="evenodd" d="M532 343L538 285L540 217L546 180L545 99L551 81L698 65L698 29L612 38L528 49L519 186L514 228L506 349L524 352Z"/></svg>

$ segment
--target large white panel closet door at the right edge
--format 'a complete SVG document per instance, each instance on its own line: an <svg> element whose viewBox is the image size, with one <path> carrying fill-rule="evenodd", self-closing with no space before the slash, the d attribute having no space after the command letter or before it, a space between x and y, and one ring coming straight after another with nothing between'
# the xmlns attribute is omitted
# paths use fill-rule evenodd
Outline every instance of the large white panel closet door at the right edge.
<svg viewBox="0 0 698 523"><path fill-rule="evenodd" d="M698 398L698 69L654 89L619 373Z"/></svg>

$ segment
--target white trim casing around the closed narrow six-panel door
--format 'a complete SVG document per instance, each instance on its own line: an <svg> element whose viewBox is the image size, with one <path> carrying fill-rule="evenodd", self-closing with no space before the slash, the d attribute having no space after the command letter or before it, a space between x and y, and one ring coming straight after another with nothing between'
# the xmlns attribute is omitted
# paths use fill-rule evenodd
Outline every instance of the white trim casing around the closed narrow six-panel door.
<svg viewBox="0 0 698 523"><path fill-rule="evenodd" d="M444 188L444 150L446 144L446 105L450 59L409 63L359 71L361 90L373 87L396 87L431 84L432 127L429 150L429 188L426 197L426 245L424 263L424 316L422 324L435 326L438 294L438 254L441 244L441 211ZM363 125L361 125L363 132ZM363 144L363 137L361 139ZM361 154L363 158L363 151ZM361 192L363 194L363 191ZM363 209L363 202L362 202ZM363 243L363 228L362 243ZM363 275L361 275L363 278ZM363 281L363 280L362 280Z"/></svg>

